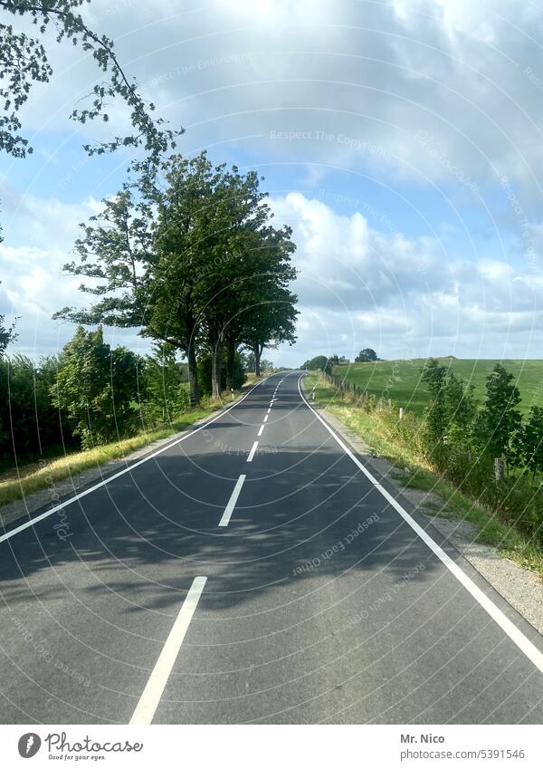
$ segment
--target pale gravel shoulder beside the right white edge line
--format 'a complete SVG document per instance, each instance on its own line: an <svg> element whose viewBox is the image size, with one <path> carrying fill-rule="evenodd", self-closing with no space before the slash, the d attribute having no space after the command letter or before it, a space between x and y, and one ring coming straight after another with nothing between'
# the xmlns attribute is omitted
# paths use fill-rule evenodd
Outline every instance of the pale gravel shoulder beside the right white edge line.
<svg viewBox="0 0 543 769"><path fill-rule="evenodd" d="M494 590L543 635L543 582L538 574L510 561L509 558L504 558L490 545L475 542L475 526L447 510L438 495L402 485L395 478L398 474L397 467L383 457L373 456L367 443L346 428L328 409L316 408L338 435L345 438L357 453L365 458L370 467L374 467L378 474L386 477L419 513L424 514Z"/></svg>

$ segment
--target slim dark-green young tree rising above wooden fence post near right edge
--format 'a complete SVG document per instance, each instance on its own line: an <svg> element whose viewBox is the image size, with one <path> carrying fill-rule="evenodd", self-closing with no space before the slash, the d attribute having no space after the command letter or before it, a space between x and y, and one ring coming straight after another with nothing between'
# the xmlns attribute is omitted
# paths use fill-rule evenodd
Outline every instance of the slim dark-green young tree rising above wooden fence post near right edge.
<svg viewBox="0 0 543 769"><path fill-rule="evenodd" d="M496 363L486 380L486 397L481 412L483 450L491 458L503 457L508 465L514 464L514 437L520 427L518 409L519 389L513 384L513 375Z"/></svg>

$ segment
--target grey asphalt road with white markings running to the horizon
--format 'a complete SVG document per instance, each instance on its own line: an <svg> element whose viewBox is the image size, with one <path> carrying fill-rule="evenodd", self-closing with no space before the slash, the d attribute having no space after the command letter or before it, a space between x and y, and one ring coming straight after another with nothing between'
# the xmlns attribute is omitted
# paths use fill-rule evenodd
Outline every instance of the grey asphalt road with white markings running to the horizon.
<svg viewBox="0 0 543 769"><path fill-rule="evenodd" d="M0 543L2 723L541 722L538 633L299 380Z"/></svg>

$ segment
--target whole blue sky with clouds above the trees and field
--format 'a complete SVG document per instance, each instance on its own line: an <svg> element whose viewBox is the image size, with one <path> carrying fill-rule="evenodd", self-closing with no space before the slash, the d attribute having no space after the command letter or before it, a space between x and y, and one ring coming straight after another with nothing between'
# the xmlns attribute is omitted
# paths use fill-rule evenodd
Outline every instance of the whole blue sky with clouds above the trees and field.
<svg viewBox="0 0 543 769"><path fill-rule="evenodd" d="M299 271L295 345L381 358L541 358L543 13L529 0L92 0L89 24L178 150L256 169ZM52 81L24 108L34 153L0 158L0 313L10 348L38 359L83 306L62 274L78 225L122 185L126 151L82 144L127 128L68 120L99 78L84 52L46 40ZM107 339L148 351L134 332Z"/></svg>

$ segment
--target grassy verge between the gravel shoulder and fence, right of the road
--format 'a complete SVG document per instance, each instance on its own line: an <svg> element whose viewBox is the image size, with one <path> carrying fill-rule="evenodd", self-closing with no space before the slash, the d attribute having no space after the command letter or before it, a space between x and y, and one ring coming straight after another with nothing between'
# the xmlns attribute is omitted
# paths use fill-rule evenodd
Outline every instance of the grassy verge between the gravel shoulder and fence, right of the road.
<svg viewBox="0 0 543 769"><path fill-rule="evenodd" d="M349 430L363 438L378 457L385 457L393 466L409 474L395 473L396 482L406 487L433 492L443 500L443 508L432 511L443 517L468 521L477 529L476 541L490 544L497 552L543 575L543 553L529 538L504 523L483 505L463 495L452 483L435 473L417 449L400 443L391 433L386 419L379 412L367 412L355 405L348 395L340 396L318 372L305 378L307 389L315 387L315 399L340 419Z"/></svg>

